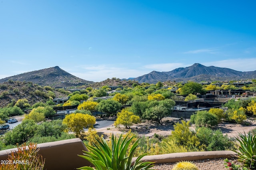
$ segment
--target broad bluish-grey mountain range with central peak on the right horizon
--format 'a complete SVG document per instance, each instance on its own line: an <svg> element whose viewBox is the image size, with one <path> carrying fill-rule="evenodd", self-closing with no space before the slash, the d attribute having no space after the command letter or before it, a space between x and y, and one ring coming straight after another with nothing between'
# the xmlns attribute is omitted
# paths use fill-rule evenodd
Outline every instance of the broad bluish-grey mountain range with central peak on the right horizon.
<svg viewBox="0 0 256 170"><path fill-rule="evenodd" d="M180 67L172 71L159 72L152 71L146 75L142 75L133 80L139 83L157 83L158 81L230 81L255 79L256 71L236 71L233 69L214 67L206 67L202 64L195 63L189 67Z"/></svg>

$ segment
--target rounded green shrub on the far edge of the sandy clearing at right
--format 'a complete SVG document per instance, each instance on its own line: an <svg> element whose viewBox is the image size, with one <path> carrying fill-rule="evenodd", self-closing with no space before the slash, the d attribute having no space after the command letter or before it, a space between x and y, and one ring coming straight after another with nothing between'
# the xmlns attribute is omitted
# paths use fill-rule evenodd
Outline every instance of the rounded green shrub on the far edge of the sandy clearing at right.
<svg viewBox="0 0 256 170"><path fill-rule="evenodd" d="M191 115L191 123L196 126L215 127L218 125L218 118L216 115L209 113L208 111L196 111L196 114Z"/></svg>

